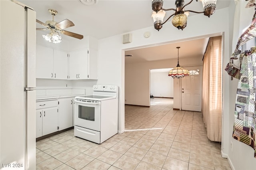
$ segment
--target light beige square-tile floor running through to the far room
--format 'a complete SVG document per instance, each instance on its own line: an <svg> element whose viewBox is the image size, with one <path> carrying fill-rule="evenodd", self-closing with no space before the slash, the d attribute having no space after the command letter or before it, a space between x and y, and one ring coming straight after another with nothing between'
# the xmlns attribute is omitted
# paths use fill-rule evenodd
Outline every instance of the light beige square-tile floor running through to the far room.
<svg viewBox="0 0 256 170"><path fill-rule="evenodd" d="M202 113L173 110L172 99L126 105L125 129L102 144L77 138L74 130L40 140L36 169L231 170L220 143L208 140Z"/></svg>

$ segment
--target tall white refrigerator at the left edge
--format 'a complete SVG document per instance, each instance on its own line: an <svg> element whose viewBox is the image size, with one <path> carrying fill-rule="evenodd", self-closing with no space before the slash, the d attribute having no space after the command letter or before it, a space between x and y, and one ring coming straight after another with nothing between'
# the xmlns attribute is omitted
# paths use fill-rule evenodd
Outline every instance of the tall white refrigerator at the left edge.
<svg viewBox="0 0 256 170"><path fill-rule="evenodd" d="M36 12L0 0L0 169L36 169Z"/></svg>

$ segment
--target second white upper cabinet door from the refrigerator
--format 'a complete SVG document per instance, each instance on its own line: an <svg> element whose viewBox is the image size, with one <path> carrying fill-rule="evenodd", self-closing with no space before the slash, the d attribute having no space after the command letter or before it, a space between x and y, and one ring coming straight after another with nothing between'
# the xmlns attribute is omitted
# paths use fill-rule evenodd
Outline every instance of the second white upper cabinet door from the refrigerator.
<svg viewBox="0 0 256 170"><path fill-rule="evenodd" d="M68 53L54 49L54 79L68 79Z"/></svg>

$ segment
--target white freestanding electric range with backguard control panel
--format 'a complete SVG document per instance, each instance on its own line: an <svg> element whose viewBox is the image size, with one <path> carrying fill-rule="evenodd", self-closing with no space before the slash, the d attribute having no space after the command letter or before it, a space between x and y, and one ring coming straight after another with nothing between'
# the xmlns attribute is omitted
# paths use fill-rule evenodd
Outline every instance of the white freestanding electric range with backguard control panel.
<svg viewBox="0 0 256 170"><path fill-rule="evenodd" d="M118 86L94 85L74 100L74 136L102 143L118 131Z"/></svg>

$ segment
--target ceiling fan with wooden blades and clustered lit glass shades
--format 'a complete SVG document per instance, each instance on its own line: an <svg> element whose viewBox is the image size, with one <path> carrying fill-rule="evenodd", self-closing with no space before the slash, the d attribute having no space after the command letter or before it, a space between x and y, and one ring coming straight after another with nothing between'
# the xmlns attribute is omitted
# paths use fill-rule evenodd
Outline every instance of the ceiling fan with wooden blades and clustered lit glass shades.
<svg viewBox="0 0 256 170"><path fill-rule="evenodd" d="M63 30L65 28L74 26L75 24L72 21L65 19L61 22L56 22L56 21L54 21L54 16L58 14L58 11L53 10L53 9L49 9L48 11L52 15L52 21L46 21L45 23L43 23L39 20L36 20L37 23L46 27L46 28L36 28L36 30L50 30L51 31L50 34L47 34L46 36L43 35L43 37L46 40L48 40L49 42L54 42L54 43L61 42L61 37L59 36L58 32L66 35L66 36L78 38L80 40L82 38L84 38L84 36L82 36L80 34L76 34L74 32L69 32L69 31Z"/></svg>

